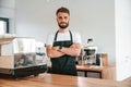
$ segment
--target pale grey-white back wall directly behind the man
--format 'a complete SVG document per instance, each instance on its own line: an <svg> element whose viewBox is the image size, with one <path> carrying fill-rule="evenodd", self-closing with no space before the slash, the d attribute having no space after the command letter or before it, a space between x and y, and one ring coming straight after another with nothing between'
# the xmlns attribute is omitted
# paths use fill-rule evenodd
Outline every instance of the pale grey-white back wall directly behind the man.
<svg viewBox="0 0 131 87"><path fill-rule="evenodd" d="M114 0L15 0L17 36L46 41L47 34L57 30L56 10L71 11L70 28L80 32L83 46L93 37L98 52L107 52L115 64L115 1Z"/></svg>

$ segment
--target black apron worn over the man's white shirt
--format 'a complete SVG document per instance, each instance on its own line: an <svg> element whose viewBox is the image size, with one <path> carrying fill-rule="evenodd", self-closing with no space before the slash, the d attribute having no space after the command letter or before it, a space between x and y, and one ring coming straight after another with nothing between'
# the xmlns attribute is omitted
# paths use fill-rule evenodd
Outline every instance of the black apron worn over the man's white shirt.
<svg viewBox="0 0 131 87"><path fill-rule="evenodd" d="M57 35L58 35L58 32L57 32L53 40L53 46L70 47L73 44L73 39L70 30L69 33L70 33L71 40L57 41ZM76 66L75 66L75 57L64 54L59 58L52 58L50 72L53 74L64 74L64 75L76 76L78 73L76 73Z"/></svg>

